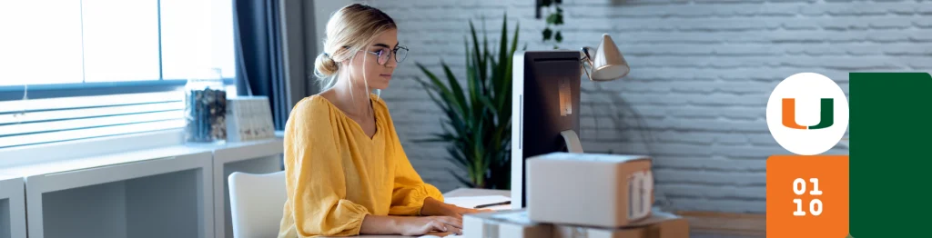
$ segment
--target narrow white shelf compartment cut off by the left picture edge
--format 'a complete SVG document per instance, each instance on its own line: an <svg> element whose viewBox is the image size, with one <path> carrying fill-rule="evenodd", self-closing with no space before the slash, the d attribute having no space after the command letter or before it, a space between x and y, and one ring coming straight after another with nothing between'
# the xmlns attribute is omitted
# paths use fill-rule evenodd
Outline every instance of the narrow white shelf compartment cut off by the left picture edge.
<svg viewBox="0 0 932 238"><path fill-rule="evenodd" d="M0 238L26 238L22 178L0 174Z"/></svg>

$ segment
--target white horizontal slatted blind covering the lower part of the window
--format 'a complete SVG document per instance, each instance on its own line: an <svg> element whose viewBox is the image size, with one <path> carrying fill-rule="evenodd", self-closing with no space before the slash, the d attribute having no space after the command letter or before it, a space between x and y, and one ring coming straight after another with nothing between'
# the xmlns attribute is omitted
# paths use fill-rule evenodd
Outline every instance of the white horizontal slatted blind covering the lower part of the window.
<svg viewBox="0 0 932 238"><path fill-rule="evenodd" d="M185 126L181 91L0 101L0 149Z"/></svg>

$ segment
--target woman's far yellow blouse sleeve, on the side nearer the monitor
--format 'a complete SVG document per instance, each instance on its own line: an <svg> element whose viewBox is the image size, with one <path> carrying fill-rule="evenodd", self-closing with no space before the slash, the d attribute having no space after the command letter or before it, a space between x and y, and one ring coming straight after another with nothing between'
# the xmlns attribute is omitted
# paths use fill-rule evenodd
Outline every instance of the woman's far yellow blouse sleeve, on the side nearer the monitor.
<svg viewBox="0 0 932 238"><path fill-rule="evenodd" d="M389 214L399 216L420 215L420 208L424 206L424 199L432 197L443 202L444 194L433 185L420 179L418 171L414 169L414 166L408 161L407 155L404 154L404 149L391 119L388 121L391 127L391 139L393 140L391 144L395 156L395 182L394 189L391 192Z"/></svg>

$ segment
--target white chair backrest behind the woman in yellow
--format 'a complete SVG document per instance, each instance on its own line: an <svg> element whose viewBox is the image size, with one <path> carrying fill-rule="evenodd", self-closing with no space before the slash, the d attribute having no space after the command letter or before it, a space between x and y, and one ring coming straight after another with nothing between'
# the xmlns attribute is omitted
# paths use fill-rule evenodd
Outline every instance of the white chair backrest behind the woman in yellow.
<svg viewBox="0 0 932 238"><path fill-rule="evenodd" d="M285 172L256 175L233 172L229 178L233 237L275 237L287 200Z"/></svg>

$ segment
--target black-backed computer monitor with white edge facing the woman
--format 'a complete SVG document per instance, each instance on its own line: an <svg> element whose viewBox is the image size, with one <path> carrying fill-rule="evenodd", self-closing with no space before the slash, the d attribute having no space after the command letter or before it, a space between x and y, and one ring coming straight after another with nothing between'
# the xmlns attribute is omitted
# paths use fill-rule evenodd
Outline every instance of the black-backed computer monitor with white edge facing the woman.
<svg viewBox="0 0 932 238"><path fill-rule="evenodd" d="M580 52L514 53L512 77L512 207L527 206L525 160L549 152L582 152ZM569 144L569 145L568 145Z"/></svg>

